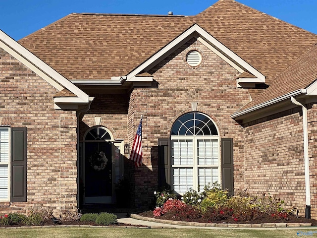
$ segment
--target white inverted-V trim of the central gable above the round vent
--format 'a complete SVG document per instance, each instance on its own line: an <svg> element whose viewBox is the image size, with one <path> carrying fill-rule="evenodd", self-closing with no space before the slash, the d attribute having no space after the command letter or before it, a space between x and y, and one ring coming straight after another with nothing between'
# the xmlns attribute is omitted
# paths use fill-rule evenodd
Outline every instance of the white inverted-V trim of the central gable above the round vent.
<svg viewBox="0 0 317 238"><path fill-rule="evenodd" d="M155 64L157 64L160 60L162 60L164 57L168 56L171 52L176 50L179 46L182 45L182 43L185 43L188 41L191 37L194 37L195 34L200 35L199 40L202 42L204 45L210 45L212 47L212 51L216 50L216 54L221 55L221 58L223 57L224 59L227 60L227 62L231 65L235 65L235 68L239 72L244 72L241 67L238 65L241 65L243 68L245 68L247 71L255 75L260 82L265 83L265 76L260 73L258 70L256 70L254 67L252 67L249 63L247 63L245 60L242 60L238 55L233 53L230 49L228 49L226 46L224 46L222 43L220 43L218 40L216 40L214 37L212 37L207 31L205 31L203 28L201 28L199 25L194 24L192 27L188 28L186 31L184 31L181 35L176 37L173 41L168 43L165 47L163 47L159 52L154 54L152 57L150 57L148 60L145 62L141 63L138 67L136 67L134 70L132 70L128 75L127 75L127 80L131 80L135 75L140 73L141 71L148 71L151 67L153 67ZM206 39L209 41L211 44L209 44L207 41L203 40ZM213 47L213 46L214 47ZM219 49L219 51L217 50ZM228 59L225 57L222 53L223 52L225 55L227 55L230 59L233 61L236 61L237 64L235 64L232 60Z"/></svg>

